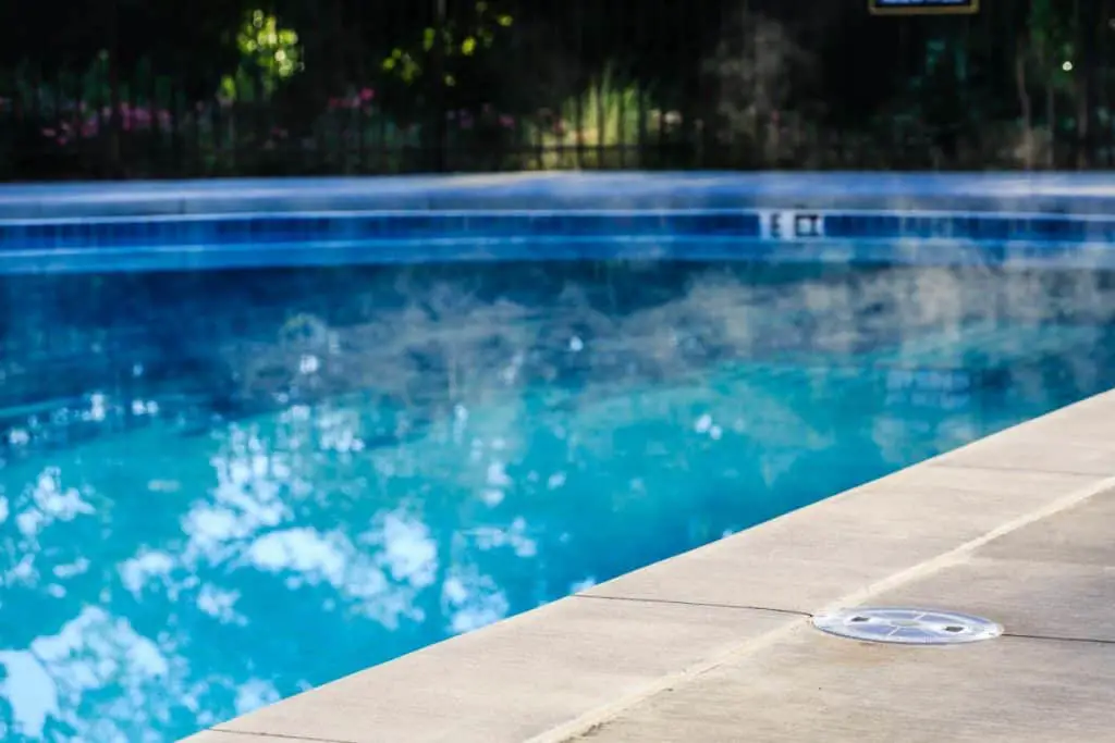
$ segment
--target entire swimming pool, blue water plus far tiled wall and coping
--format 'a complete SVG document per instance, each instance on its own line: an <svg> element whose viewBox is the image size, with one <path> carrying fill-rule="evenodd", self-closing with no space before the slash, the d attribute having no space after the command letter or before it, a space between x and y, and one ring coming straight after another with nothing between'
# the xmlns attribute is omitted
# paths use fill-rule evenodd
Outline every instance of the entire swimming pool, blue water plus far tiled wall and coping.
<svg viewBox="0 0 1115 743"><path fill-rule="evenodd" d="M0 188L4 740L175 740L1115 385L1099 182L601 178Z"/></svg>

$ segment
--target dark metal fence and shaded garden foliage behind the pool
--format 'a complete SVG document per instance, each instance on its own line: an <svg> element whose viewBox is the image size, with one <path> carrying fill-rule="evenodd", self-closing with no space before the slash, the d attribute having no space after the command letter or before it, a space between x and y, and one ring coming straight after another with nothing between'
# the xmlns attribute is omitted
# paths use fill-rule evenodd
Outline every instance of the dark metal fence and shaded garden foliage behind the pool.
<svg viewBox="0 0 1115 743"><path fill-rule="evenodd" d="M0 9L2 179L1113 159L1111 0L75 4Z"/></svg>

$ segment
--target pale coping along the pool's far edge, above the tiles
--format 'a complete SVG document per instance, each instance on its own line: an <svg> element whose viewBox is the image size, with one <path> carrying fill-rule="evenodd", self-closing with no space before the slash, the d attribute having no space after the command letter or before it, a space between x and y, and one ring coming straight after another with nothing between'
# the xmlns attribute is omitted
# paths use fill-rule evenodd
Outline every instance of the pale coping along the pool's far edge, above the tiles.
<svg viewBox="0 0 1115 743"><path fill-rule="evenodd" d="M1103 173L545 172L0 184L0 219L460 209L946 209L1109 215Z"/></svg>

